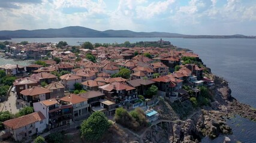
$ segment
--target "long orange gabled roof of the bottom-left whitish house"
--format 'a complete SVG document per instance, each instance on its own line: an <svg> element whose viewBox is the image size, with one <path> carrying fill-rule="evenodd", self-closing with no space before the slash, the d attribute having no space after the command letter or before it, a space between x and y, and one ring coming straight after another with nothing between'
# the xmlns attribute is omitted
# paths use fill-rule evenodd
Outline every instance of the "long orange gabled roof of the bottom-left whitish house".
<svg viewBox="0 0 256 143"><path fill-rule="evenodd" d="M25 116L17 117L16 119L7 120L4 122L4 125L11 129L19 129L32 123L40 122L44 119L46 119L46 117L44 117L44 115L39 111L27 114Z"/></svg>

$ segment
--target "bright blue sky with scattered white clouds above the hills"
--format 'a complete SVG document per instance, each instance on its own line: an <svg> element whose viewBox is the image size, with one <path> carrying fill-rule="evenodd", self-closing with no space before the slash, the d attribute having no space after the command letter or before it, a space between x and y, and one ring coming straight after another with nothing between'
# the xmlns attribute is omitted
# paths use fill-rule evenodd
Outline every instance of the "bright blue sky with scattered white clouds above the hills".
<svg viewBox="0 0 256 143"><path fill-rule="evenodd" d="M0 30L83 26L188 35L256 35L255 0L0 0Z"/></svg>

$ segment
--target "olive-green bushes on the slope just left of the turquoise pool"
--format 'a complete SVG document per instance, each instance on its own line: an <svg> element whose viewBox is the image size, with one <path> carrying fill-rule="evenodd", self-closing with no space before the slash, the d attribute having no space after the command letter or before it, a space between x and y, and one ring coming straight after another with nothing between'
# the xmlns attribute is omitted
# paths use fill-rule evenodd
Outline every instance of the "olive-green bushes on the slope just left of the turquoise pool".
<svg viewBox="0 0 256 143"><path fill-rule="evenodd" d="M136 108L130 113L128 113L128 111L122 107L117 108L115 114L115 121L135 131L142 129L147 125L144 111L140 108Z"/></svg>

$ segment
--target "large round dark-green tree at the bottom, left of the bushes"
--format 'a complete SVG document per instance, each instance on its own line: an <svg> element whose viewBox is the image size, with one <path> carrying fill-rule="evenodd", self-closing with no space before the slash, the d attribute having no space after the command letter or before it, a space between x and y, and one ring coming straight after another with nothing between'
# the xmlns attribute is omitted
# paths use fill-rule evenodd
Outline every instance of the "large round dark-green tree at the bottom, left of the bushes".
<svg viewBox="0 0 256 143"><path fill-rule="evenodd" d="M110 122L105 114L101 111L96 111L87 120L83 121L80 130L82 138L87 141L98 141L109 127Z"/></svg>

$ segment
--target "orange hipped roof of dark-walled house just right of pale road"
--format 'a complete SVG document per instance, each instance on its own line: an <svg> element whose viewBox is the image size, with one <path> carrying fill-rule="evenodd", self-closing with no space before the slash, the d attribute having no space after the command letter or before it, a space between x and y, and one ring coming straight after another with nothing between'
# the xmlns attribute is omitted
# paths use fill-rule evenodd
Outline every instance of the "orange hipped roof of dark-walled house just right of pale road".
<svg viewBox="0 0 256 143"><path fill-rule="evenodd" d="M35 95L47 94L47 93L50 93L49 89L39 87L39 86L34 86L32 88L20 91L20 94L25 96L35 96Z"/></svg>

